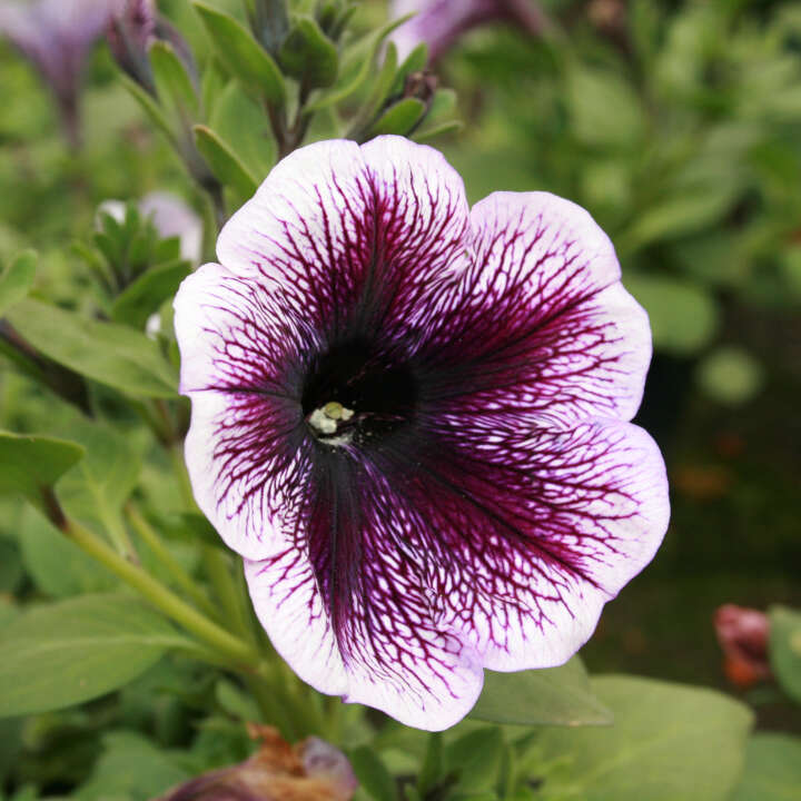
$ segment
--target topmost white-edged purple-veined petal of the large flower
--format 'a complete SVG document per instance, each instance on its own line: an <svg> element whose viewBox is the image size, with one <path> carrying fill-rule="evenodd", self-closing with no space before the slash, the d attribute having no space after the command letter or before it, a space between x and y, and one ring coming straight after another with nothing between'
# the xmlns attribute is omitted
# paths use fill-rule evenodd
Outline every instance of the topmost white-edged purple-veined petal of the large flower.
<svg viewBox="0 0 801 801"><path fill-rule="evenodd" d="M390 136L316 142L273 169L217 255L330 339L372 335L408 324L459 261L467 215L462 179L433 148Z"/></svg>

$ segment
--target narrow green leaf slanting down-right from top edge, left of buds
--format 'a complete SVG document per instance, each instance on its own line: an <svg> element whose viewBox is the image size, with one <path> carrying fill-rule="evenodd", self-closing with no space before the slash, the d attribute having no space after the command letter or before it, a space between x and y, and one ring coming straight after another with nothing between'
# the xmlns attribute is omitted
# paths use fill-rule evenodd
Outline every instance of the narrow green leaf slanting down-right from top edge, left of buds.
<svg viewBox="0 0 801 801"><path fill-rule="evenodd" d="M202 2L192 2L211 37L217 57L226 69L243 82L249 92L280 107L286 99L284 78L269 53L249 31L227 13Z"/></svg>

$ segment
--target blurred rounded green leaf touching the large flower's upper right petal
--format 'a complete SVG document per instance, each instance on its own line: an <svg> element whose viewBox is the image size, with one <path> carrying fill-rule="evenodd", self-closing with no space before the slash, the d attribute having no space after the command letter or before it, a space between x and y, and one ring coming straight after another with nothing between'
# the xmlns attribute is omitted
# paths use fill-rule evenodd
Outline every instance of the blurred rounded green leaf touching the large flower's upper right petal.
<svg viewBox="0 0 801 801"><path fill-rule="evenodd" d="M718 329L712 296L689 280L660 276L625 276L623 283L651 319L657 350L691 355L705 347Z"/></svg>

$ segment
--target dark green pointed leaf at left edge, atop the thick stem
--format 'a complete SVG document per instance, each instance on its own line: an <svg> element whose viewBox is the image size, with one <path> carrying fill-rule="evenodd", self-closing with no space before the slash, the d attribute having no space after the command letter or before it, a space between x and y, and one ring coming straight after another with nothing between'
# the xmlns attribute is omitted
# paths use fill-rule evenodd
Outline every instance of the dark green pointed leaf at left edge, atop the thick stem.
<svg viewBox="0 0 801 801"><path fill-rule="evenodd" d="M0 494L23 495L44 511L43 491L82 456L80 445L65 439L0 432Z"/></svg>

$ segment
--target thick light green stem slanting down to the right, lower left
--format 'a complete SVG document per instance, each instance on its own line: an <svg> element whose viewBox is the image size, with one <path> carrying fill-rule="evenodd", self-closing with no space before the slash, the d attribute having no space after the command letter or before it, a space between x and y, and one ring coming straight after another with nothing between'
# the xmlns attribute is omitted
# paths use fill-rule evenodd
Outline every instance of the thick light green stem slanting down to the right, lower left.
<svg viewBox="0 0 801 801"><path fill-rule="evenodd" d="M251 645L229 634L141 567L122 558L113 548L76 521L66 521L63 531L85 553L96 558L126 584L137 590L168 617L238 665L260 668L261 655Z"/></svg>

